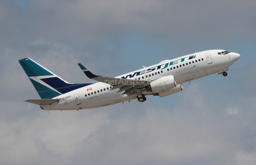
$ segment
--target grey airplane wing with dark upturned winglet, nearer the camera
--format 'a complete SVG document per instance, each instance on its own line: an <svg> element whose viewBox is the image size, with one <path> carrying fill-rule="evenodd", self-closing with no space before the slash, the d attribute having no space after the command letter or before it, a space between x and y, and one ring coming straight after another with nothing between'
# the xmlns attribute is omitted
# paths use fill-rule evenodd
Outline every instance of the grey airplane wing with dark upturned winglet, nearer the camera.
<svg viewBox="0 0 256 165"><path fill-rule="evenodd" d="M136 89L142 89L149 86L149 83L151 82L144 80L122 79L95 75L89 69L85 68L84 65L82 65L81 63L78 63L78 65L88 78L113 86L111 90L119 88L118 92L124 91L123 94L127 95L132 94Z"/></svg>

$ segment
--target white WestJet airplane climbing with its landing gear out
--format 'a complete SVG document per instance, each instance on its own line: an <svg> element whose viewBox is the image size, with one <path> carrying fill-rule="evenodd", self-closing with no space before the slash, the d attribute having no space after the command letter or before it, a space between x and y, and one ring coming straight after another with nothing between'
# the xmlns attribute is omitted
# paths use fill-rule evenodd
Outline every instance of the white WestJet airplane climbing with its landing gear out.
<svg viewBox="0 0 256 165"><path fill-rule="evenodd" d="M82 110L124 103L146 96L165 97L183 90L182 84L218 73L227 76L230 65L239 59L238 53L225 50L202 51L144 67L117 77L95 75L78 63L85 75L99 81L94 84L70 84L35 61L19 60L29 80L41 97L25 100L43 110Z"/></svg>

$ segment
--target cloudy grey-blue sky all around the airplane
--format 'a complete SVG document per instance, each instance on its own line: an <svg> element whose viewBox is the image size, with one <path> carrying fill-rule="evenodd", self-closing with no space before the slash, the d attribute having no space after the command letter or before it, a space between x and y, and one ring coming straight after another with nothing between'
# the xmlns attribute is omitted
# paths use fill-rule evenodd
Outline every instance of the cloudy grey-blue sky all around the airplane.
<svg viewBox="0 0 256 165"><path fill-rule="evenodd" d="M0 0L0 164L256 164L255 0ZM18 60L96 83L223 49L228 76L97 109L43 111Z"/></svg>

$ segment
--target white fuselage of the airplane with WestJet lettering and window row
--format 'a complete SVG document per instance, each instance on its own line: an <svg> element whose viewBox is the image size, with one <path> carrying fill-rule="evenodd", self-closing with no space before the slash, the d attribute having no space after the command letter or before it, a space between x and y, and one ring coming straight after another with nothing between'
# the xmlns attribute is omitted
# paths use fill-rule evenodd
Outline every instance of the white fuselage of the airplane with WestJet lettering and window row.
<svg viewBox="0 0 256 165"><path fill-rule="evenodd" d="M228 70L238 58L237 53L218 54L223 50L210 50L178 57L173 60L164 60L158 64L126 73L116 78L154 80L159 77L173 75L177 85L195 80L213 73ZM127 95L118 92L119 89L110 90L110 85L95 83L71 92L65 93L56 99L58 103L43 105L44 110L80 110L98 108L101 106L130 101L137 95ZM153 92L142 91L143 95Z"/></svg>

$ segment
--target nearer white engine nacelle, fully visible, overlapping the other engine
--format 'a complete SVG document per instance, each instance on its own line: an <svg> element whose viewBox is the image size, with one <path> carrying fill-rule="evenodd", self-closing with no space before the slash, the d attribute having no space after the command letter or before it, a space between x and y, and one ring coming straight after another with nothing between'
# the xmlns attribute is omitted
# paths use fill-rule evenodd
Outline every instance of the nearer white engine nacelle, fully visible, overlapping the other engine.
<svg viewBox="0 0 256 165"><path fill-rule="evenodd" d="M165 76L159 78L150 83L150 86L146 89L147 92L163 92L164 90L169 90L177 86L174 76Z"/></svg>

